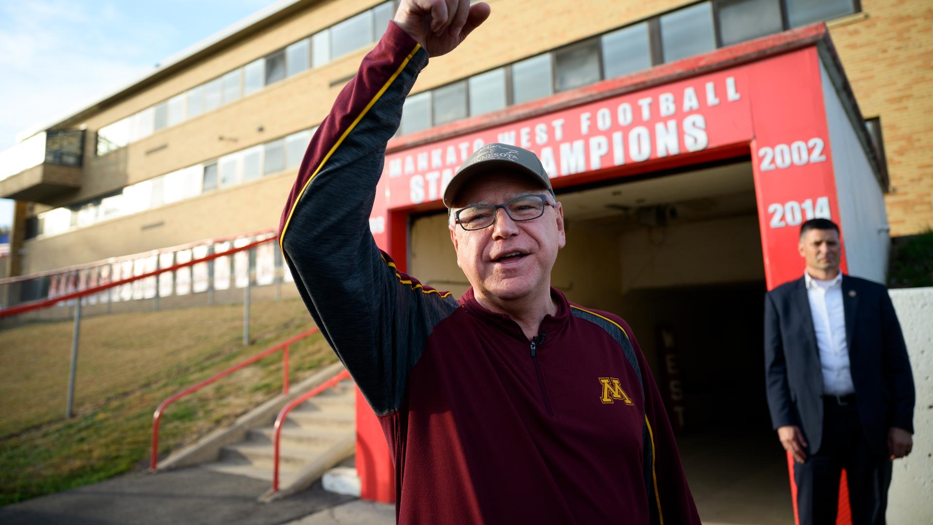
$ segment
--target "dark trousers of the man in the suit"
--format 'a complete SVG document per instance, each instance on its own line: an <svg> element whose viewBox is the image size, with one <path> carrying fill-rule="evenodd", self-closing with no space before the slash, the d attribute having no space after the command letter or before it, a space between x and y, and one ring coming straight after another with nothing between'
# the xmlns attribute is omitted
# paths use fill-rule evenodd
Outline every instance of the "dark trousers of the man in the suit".
<svg viewBox="0 0 933 525"><path fill-rule="evenodd" d="M801 525L835 525L839 476L845 469L853 525L884 525L891 462L872 451L854 402L823 404L823 443L803 464L794 463Z"/></svg>

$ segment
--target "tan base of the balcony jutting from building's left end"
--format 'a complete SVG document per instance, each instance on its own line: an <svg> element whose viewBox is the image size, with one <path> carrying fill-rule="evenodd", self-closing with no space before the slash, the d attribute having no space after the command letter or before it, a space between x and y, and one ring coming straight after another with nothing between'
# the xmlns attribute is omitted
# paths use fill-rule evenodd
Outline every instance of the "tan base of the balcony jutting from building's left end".
<svg viewBox="0 0 933 525"><path fill-rule="evenodd" d="M81 168L41 163L0 180L0 198L54 205L81 187Z"/></svg>

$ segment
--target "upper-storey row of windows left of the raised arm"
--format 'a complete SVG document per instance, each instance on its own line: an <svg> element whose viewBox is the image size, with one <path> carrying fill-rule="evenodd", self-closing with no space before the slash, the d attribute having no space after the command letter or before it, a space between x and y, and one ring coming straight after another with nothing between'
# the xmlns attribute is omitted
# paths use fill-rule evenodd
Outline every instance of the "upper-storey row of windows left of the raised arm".
<svg viewBox="0 0 933 525"><path fill-rule="evenodd" d="M97 132L97 154L122 148L160 129L230 104L283 78L319 67L371 45L395 14L395 1L383 2L281 50L214 78Z"/></svg>

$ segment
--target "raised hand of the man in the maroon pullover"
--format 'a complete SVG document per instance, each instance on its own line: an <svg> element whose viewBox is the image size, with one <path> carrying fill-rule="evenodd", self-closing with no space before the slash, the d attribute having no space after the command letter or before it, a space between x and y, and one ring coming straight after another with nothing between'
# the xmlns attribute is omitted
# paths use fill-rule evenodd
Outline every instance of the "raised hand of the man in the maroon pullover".
<svg viewBox="0 0 933 525"><path fill-rule="evenodd" d="M469 0L402 0L394 21L435 57L459 46L489 13L487 4Z"/></svg>

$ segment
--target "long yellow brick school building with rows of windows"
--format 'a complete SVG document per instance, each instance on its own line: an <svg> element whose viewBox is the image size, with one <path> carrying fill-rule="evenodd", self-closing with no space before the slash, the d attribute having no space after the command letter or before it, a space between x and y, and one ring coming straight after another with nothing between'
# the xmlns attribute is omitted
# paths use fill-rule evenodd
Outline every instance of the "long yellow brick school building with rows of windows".
<svg viewBox="0 0 933 525"><path fill-rule="evenodd" d="M892 236L933 226L929 3L489 3L494 16L483 36L419 78L403 134L497 108L498 95L483 107L479 94L497 76L506 88L499 106L508 106L825 20L862 114L875 120L873 136L884 141ZM18 201L14 273L274 227L302 142L394 10L392 2L371 0L286 2L183 51L93 106L23 134L21 144L0 156L0 196ZM676 41L676 32L688 37ZM604 62L612 46L622 46L627 58L610 67ZM564 64L573 63L578 67L564 74ZM536 91L536 78L549 75L551 88ZM456 83L463 79L472 87L468 103L466 88ZM425 92L431 94L417 96ZM79 130L83 137L57 130ZM62 165L74 163L78 140L81 165ZM218 174L225 171L218 161L237 173Z"/></svg>

